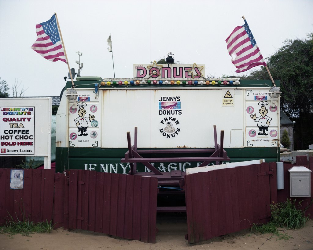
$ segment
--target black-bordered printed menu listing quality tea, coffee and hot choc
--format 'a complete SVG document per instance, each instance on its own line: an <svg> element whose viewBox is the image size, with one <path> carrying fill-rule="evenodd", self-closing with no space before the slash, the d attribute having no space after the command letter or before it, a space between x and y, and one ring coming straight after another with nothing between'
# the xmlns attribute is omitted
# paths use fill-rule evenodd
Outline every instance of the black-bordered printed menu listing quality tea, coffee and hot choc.
<svg viewBox="0 0 313 250"><path fill-rule="evenodd" d="M0 107L1 154L34 154L35 107Z"/></svg>

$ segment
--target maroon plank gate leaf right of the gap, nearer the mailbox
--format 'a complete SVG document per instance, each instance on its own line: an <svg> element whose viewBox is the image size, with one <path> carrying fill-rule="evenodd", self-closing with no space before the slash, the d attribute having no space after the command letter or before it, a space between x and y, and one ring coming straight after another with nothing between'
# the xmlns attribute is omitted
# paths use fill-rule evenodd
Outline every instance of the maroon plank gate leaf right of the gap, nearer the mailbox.
<svg viewBox="0 0 313 250"><path fill-rule="evenodd" d="M269 221L276 163L189 174L185 190L189 243L240 231Z"/></svg>

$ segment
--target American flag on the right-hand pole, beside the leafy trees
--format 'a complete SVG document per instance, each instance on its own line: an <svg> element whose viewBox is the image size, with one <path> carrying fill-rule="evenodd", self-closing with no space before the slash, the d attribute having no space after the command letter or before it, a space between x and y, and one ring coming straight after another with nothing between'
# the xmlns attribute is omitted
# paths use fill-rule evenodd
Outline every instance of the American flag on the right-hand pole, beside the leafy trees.
<svg viewBox="0 0 313 250"><path fill-rule="evenodd" d="M237 73L258 65L266 66L246 20L244 25L237 26L225 41L232 63L238 69Z"/></svg>

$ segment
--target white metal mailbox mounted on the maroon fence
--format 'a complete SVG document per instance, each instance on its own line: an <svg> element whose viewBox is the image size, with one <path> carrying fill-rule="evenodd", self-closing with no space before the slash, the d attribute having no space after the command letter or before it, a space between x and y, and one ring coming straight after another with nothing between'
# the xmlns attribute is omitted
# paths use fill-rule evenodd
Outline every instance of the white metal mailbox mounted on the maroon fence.
<svg viewBox="0 0 313 250"><path fill-rule="evenodd" d="M311 172L306 167L292 167L290 173L290 197L311 196Z"/></svg>

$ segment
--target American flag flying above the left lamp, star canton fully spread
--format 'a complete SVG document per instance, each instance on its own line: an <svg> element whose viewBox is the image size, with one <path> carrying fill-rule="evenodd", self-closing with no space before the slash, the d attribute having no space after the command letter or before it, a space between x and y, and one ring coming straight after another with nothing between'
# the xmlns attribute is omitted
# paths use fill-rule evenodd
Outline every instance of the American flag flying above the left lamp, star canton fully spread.
<svg viewBox="0 0 313 250"><path fill-rule="evenodd" d="M37 24L36 32L38 38L31 48L49 61L61 60L67 63L55 14L49 21Z"/></svg>

